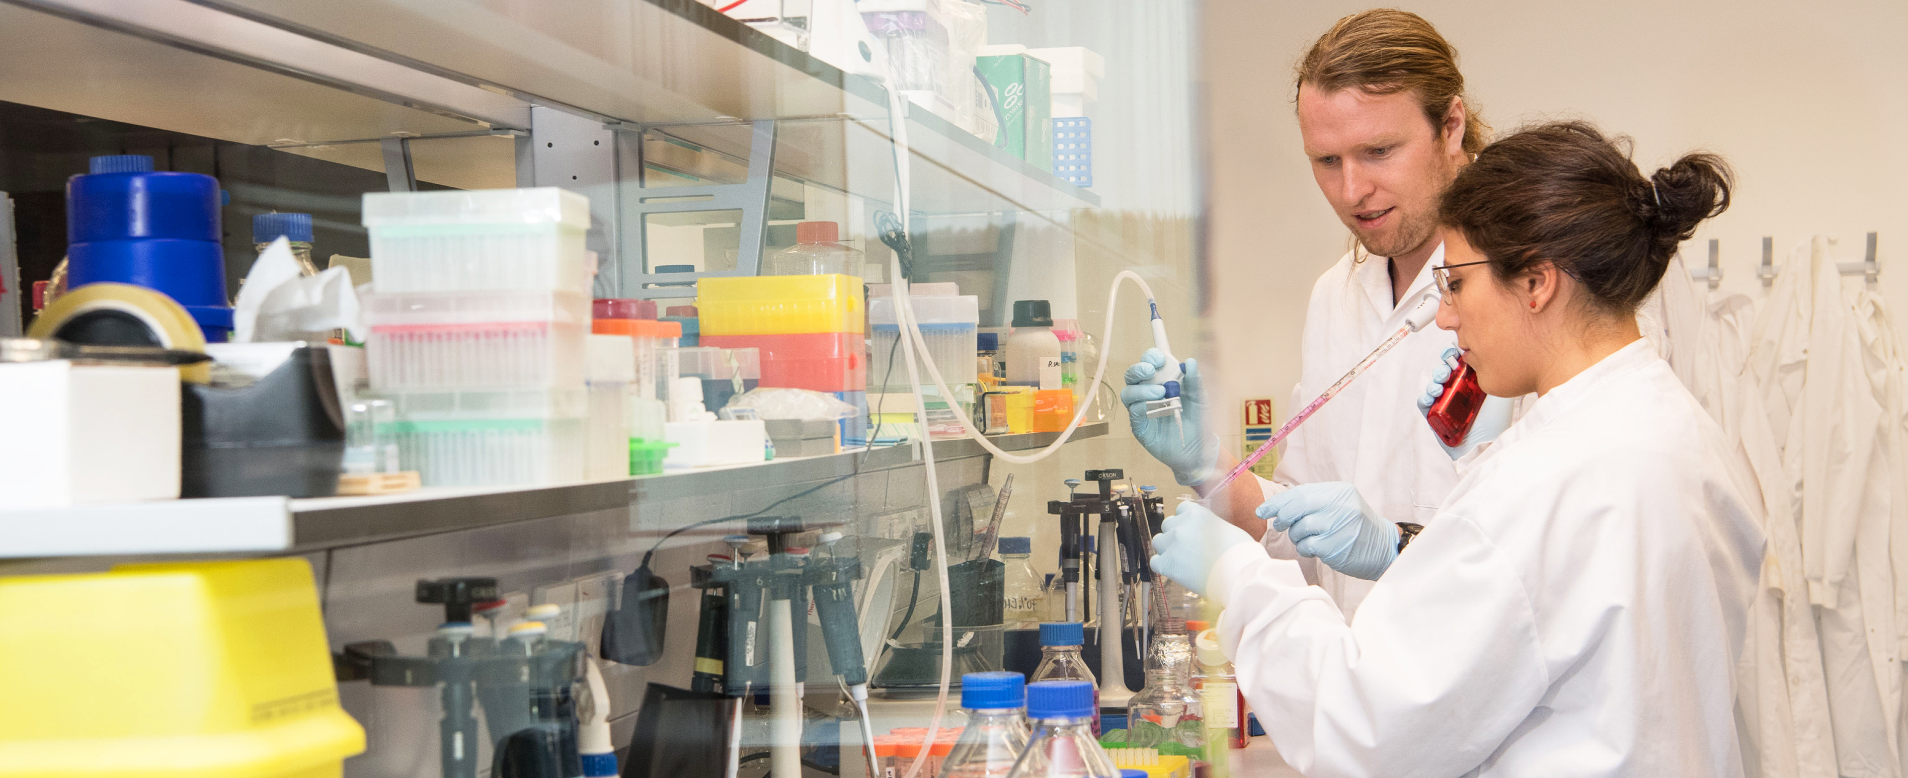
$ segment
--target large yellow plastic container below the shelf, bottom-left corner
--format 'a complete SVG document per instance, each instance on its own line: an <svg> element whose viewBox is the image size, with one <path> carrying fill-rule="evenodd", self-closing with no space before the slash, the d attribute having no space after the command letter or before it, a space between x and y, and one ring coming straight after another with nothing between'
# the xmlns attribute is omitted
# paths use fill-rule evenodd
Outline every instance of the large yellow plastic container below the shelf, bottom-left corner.
<svg viewBox="0 0 1908 778"><path fill-rule="evenodd" d="M0 578L0 778L343 772L303 559Z"/></svg>

